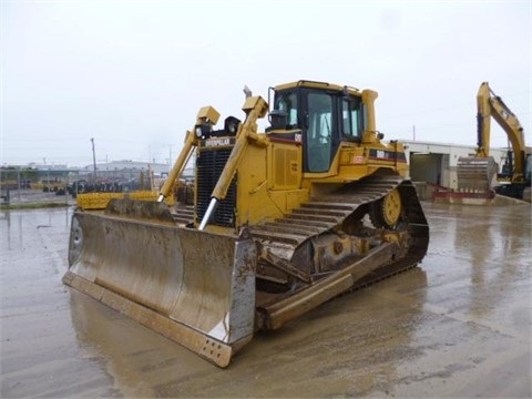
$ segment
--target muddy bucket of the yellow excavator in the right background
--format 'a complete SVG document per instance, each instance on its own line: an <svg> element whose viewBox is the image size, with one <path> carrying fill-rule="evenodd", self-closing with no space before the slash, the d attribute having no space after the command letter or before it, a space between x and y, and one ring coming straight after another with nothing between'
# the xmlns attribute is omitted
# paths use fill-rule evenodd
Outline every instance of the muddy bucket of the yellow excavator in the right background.
<svg viewBox="0 0 532 399"><path fill-rule="evenodd" d="M490 190L497 172L492 156L461 156L457 163L458 188L485 192Z"/></svg>

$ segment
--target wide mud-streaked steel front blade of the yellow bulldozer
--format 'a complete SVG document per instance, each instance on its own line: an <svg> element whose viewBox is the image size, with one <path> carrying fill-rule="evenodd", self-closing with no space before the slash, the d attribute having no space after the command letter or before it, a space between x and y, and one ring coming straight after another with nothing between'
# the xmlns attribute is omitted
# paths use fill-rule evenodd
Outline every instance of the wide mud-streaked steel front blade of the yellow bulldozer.
<svg viewBox="0 0 532 399"><path fill-rule="evenodd" d="M256 248L248 232L177 227L135 206L142 211L127 216L74 213L63 282L228 366L254 331Z"/></svg>

